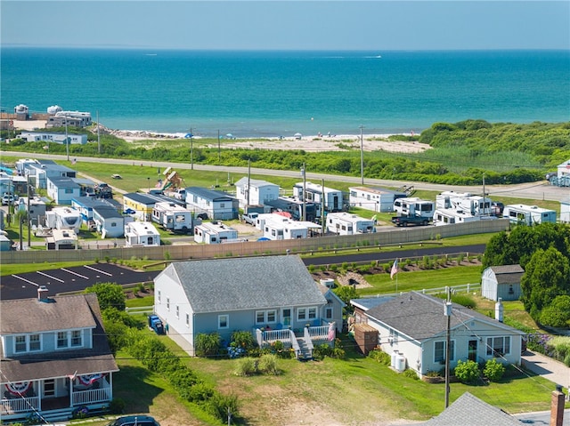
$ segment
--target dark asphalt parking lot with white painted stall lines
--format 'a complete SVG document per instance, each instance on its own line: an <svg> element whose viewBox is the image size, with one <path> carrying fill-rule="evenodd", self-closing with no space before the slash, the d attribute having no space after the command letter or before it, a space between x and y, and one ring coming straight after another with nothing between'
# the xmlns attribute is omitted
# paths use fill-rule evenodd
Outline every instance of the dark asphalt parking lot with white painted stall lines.
<svg viewBox="0 0 570 426"><path fill-rule="evenodd" d="M149 282L159 271L135 271L110 263L94 263L72 268L47 269L26 274L2 277L0 294L2 300L37 297L37 287L45 285L48 295L80 292L97 283L129 285Z"/></svg>

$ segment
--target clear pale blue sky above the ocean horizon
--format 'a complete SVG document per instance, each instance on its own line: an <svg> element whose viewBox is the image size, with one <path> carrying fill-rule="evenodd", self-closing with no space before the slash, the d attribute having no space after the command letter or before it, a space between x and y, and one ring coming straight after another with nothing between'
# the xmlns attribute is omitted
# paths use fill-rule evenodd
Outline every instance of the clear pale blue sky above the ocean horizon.
<svg viewBox="0 0 570 426"><path fill-rule="evenodd" d="M0 1L0 45L185 50L570 49L570 2Z"/></svg>

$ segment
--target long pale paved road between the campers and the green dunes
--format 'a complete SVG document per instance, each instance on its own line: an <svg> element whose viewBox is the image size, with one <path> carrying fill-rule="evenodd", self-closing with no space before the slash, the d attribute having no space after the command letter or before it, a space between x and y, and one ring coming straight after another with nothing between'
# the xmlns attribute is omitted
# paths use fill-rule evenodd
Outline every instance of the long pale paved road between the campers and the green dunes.
<svg viewBox="0 0 570 426"><path fill-rule="evenodd" d="M16 152L16 151L1 151L0 155L10 156L10 157L35 157L35 158L45 158L53 159L59 161L65 161L66 156L59 156L53 154L38 153L30 155L29 152ZM97 157L75 157L77 162L87 162L87 163L101 163L102 159ZM121 159L121 158L105 158L106 165L133 165L133 159ZM172 163L166 161L139 161L136 160L136 164L149 166L149 167L160 167L166 168L168 166L175 166L176 169L194 169L194 170L205 170L210 172L224 172L224 173L239 173L248 174L248 167L230 167L226 165L190 165L188 163ZM290 170L270 170L270 169L260 169L256 167L251 168L251 173L262 174L266 176L285 176L291 178L300 178L298 171ZM307 179L318 180L324 179L325 181L343 181L347 183L361 184L362 179L356 176L340 176L338 174L322 174L322 173L311 173L307 171ZM402 187L413 186L416 189L425 189L432 191L444 191L444 190L454 190L459 192L472 192L474 194L482 193L483 186L451 186L451 185L441 185L436 183L426 183L426 182L411 182L411 181L388 181L382 179L364 179L365 185L379 185L387 187ZM558 188L550 185L547 181L522 183L518 185L487 185L485 186L485 192L491 197L519 197L527 198L531 200L552 200L552 201L563 201L569 198L567 188Z"/></svg>

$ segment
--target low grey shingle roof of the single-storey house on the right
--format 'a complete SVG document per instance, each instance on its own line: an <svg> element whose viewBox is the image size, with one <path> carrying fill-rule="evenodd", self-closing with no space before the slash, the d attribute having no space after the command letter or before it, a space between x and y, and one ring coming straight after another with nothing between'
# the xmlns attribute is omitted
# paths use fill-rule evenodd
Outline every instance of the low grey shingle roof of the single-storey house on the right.
<svg viewBox="0 0 570 426"><path fill-rule="evenodd" d="M391 301L368 309L366 314L419 342L431 339L438 334L444 334L447 328L444 301L417 292L405 293L395 297ZM452 303L452 329L473 318L485 323L493 322L496 326L505 327L512 330L513 333L517 333L514 328L505 326L490 317L485 317L475 310Z"/></svg>

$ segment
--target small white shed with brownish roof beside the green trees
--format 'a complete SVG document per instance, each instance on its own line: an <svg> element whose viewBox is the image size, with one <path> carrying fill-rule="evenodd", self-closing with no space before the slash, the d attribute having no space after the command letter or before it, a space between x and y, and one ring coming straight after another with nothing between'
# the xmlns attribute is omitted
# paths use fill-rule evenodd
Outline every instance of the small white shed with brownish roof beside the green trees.
<svg viewBox="0 0 570 426"><path fill-rule="evenodd" d="M492 301L517 301L522 295L520 280L525 269L520 265L491 266L483 271L481 295Z"/></svg>

